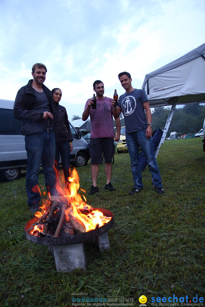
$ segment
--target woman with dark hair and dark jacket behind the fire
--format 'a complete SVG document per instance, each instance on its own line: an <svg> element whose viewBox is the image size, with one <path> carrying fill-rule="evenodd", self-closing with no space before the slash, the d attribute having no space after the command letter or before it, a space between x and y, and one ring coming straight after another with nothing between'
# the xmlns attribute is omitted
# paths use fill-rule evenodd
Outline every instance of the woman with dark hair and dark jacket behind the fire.
<svg viewBox="0 0 205 307"><path fill-rule="evenodd" d="M68 177L70 176L70 152L73 150L73 136L70 131L68 115L65 107L59 104L62 97L60 88L53 88L51 91L56 109L56 118L54 133L56 138L56 155L55 155L55 167L59 173L59 154L61 155L63 173L65 177L65 186L68 183Z"/></svg>

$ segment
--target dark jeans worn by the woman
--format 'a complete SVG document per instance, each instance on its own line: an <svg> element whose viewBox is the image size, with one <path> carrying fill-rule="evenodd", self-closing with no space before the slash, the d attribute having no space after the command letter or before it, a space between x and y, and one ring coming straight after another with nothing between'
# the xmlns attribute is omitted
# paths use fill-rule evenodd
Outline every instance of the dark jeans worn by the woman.
<svg viewBox="0 0 205 307"><path fill-rule="evenodd" d="M63 173L65 181L68 181L70 176L70 142L60 141L56 142L56 155L55 155L55 167L59 173L59 153L61 155Z"/></svg>

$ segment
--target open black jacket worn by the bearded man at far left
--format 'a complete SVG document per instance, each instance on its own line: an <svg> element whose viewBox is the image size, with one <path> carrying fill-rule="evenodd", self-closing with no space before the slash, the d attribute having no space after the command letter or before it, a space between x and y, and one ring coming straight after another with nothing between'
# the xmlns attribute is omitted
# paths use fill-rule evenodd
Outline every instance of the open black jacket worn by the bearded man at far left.
<svg viewBox="0 0 205 307"><path fill-rule="evenodd" d="M43 113L35 110L36 96L31 86L32 82L33 79L29 80L27 85L20 88L14 102L13 115L16 119L23 122L21 129L23 135L42 131L39 119L42 119ZM50 112L53 114L55 124L56 110L53 95L44 84L42 84L42 89L49 100Z"/></svg>

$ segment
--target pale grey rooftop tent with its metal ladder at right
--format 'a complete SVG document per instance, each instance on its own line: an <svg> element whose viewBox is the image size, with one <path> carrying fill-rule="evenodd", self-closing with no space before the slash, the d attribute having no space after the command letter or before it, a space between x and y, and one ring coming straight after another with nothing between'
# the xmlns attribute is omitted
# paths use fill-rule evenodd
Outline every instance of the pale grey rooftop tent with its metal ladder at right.
<svg viewBox="0 0 205 307"><path fill-rule="evenodd" d="M205 103L205 44L147 74L142 89L148 96L151 108L171 106L160 149L166 139L175 106Z"/></svg>

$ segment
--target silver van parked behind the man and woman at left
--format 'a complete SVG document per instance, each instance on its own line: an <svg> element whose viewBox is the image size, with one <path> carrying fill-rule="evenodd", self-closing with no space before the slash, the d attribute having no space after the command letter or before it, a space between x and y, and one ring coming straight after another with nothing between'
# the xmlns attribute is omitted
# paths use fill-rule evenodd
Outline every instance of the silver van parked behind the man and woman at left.
<svg viewBox="0 0 205 307"><path fill-rule="evenodd" d="M24 135L21 134L23 123L14 118L13 107L14 101L0 99L0 176L3 181L18 179L27 166ZM87 165L90 159L88 144L71 123L70 130L73 135L70 164Z"/></svg>

